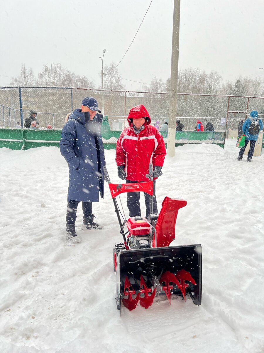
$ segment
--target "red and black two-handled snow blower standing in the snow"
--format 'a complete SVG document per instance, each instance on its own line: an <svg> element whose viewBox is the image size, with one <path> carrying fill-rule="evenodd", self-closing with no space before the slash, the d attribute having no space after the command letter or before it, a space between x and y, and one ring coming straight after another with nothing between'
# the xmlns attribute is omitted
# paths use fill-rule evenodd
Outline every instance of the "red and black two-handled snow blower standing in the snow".
<svg viewBox="0 0 264 353"><path fill-rule="evenodd" d="M152 214L153 178L150 164L150 181L146 183L111 184L106 167L103 168L117 213L123 243L113 249L117 288L117 309L125 306L136 309L152 305L154 299L180 295L185 301L190 296L194 304L202 300L202 247L201 244L169 246L175 240L175 223L178 210L186 206L182 199L165 197L159 213ZM121 221L116 197L124 192L146 192L150 195L150 215L131 217ZM128 231L125 233L124 228ZM126 234L127 238L126 238ZM163 295L163 297L161 297Z"/></svg>

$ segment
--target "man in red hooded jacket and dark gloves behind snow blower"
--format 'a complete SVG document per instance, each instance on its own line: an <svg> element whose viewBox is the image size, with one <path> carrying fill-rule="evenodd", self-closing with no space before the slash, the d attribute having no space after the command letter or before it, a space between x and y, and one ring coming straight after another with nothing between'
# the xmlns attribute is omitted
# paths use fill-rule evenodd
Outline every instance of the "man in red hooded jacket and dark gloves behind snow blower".
<svg viewBox="0 0 264 353"><path fill-rule="evenodd" d="M158 213L155 195L156 179L162 175L166 149L163 137L156 127L150 125L151 119L147 109L139 104L132 108L127 116L129 127L122 131L118 141L115 161L118 176L126 183L149 181L149 164L153 166L153 213ZM144 193L146 218L149 216L149 195ZM129 216L141 216L139 192L127 193Z"/></svg>

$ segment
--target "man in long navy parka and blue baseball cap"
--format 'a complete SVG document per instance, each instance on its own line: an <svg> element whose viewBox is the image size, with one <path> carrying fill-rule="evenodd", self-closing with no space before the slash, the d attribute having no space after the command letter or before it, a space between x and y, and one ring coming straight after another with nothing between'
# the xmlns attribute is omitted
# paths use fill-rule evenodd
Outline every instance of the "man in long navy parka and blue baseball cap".
<svg viewBox="0 0 264 353"><path fill-rule="evenodd" d="M75 232L77 205L82 201L83 228L101 229L93 221L92 202L103 198L103 166L105 154L101 138L102 114L93 97L82 100L63 126L59 148L69 164L69 189L66 215L66 237L70 243L80 243Z"/></svg>

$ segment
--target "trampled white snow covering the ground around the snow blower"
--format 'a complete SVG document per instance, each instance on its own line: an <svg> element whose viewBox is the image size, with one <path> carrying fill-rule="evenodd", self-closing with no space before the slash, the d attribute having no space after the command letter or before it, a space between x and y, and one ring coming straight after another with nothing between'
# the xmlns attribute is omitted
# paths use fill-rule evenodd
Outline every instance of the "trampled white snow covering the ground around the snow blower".
<svg viewBox="0 0 264 353"><path fill-rule="evenodd" d="M120 182L115 151L105 154ZM0 352L264 352L264 154L251 163L237 154L235 140L225 150L177 147L157 181L159 205L166 195L187 200L172 244L203 247L202 305L162 301L120 317L112 246L121 237L107 184L93 207L105 228L78 230L82 243L65 246L59 149L0 149Z"/></svg>

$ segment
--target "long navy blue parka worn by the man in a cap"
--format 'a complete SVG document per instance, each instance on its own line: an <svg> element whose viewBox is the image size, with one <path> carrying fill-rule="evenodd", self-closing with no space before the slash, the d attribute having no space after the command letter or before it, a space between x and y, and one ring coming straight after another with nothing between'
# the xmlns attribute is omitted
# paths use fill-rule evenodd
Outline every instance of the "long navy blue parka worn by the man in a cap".
<svg viewBox="0 0 264 353"><path fill-rule="evenodd" d="M75 109L63 126L59 149L69 164L69 200L99 201L103 198L105 154L101 137L102 114L92 120Z"/></svg>

